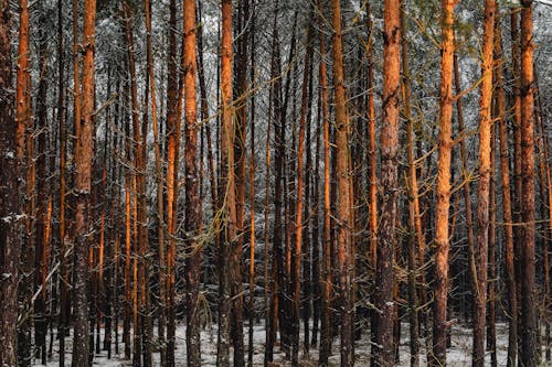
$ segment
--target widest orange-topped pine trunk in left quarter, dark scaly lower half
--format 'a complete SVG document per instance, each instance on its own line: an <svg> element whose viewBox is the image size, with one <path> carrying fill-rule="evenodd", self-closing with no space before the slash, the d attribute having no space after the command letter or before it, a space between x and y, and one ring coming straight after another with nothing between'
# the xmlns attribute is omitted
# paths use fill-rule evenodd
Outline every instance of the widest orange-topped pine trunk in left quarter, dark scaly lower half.
<svg viewBox="0 0 552 367"><path fill-rule="evenodd" d="M91 231L89 195L93 154L93 128L94 128L94 33L96 20L96 1L84 2L83 25L83 80L82 80L82 120L75 149L76 177L75 190L76 222L75 222L75 269L74 269L74 342L73 342L73 366L88 366L88 257L89 244L87 240ZM81 86L75 86L81 88Z"/></svg>

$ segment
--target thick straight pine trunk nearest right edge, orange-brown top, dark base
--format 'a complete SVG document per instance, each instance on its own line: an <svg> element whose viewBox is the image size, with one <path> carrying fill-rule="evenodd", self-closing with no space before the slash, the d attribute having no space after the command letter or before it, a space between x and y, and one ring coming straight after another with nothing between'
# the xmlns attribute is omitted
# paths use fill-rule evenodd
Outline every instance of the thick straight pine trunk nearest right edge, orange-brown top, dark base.
<svg viewBox="0 0 552 367"><path fill-rule="evenodd" d="M522 366L537 366L534 290L534 75L532 1L521 1L521 355Z"/></svg>

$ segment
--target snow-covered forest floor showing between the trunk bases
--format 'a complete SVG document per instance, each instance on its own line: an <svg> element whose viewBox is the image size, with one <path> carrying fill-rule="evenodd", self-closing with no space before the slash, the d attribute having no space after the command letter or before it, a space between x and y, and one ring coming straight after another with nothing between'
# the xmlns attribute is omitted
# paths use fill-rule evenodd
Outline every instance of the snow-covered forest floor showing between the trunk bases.
<svg viewBox="0 0 552 367"><path fill-rule="evenodd" d="M403 323L402 337L400 345L400 361L396 366L410 366L410 347L408 347L408 324ZM247 348L247 333L248 327L244 327L245 335L245 346ZM112 359L107 359L107 352L102 350L99 355L94 358L94 366L131 366L131 360L124 359L125 346L120 343L120 335L123 335L123 330L119 331L119 354L113 354ZM265 326L264 324L256 324L254 326L254 366L263 366L264 363L264 345L265 345ZM302 336L301 336L302 339ZM216 366L216 326L208 327L201 333L201 352L203 366ZM66 366L71 366L71 342L72 338L66 338ZM103 342L103 338L102 338ZM421 365L426 365L426 355L424 347L424 339L421 339L422 344L422 356ZM506 366L507 359L507 347L508 347L508 326L503 323L497 324L497 361L498 366ZM339 366L339 339L333 342L333 356L330 358L330 366ZM247 352L246 352L247 353ZM53 356L49 359L49 367L55 367L59 365L59 345L54 343ZM310 367L317 366L318 361L318 350L312 349L308 356L302 353L299 355L301 361L300 366ZM232 358L232 352L231 352ZM247 358L247 356L246 356ZM153 353L155 366L159 366L159 353ZM450 366L470 366L471 365L471 330L464 325L454 325L452 335L452 347L448 349L447 361ZM38 363L38 361L35 361ZM185 326L180 325L177 328L177 354L176 354L177 366L185 366ZM369 366L370 365L370 331L367 330L362 338L355 344L355 366ZM490 353L487 353L486 365L490 365ZM275 360L274 367L291 366L289 361L285 359L284 353L279 349L279 345L275 349Z"/></svg>

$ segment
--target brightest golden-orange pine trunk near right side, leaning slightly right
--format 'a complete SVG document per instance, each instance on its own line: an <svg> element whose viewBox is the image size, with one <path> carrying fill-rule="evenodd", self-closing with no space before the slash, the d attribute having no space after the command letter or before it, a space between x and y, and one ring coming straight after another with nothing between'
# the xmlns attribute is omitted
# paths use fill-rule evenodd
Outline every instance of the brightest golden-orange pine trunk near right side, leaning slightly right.
<svg viewBox="0 0 552 367"><path fill-rule="evenodd" d="M491 101L492 45L495 32L495 0L485 1L481 61L481 93L479 99L479 183L477 187L477 246L474 248L474 367L485 364L485 320L487 315L487 262L489 246L489 194L491 175Z"/></svg>

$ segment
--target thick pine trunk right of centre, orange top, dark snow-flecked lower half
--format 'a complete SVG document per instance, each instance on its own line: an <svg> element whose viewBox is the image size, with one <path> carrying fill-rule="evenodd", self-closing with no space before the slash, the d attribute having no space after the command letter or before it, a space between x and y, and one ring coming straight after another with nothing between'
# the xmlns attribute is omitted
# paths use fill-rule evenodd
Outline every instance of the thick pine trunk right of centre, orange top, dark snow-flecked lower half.
<svg viewBox="0 0 552 367"><path fill-rule="evenodd" d="M375 274L375 307L378 330L375 334L375 364L391 366L394 363L393 347L393 257L396 242L396 209L399 194L399 93L401 78L401 29L400 1L384 2L383 58L383 120L381 132L381 185L383 190L382 215L379 225L378 259Z"/></svg>

